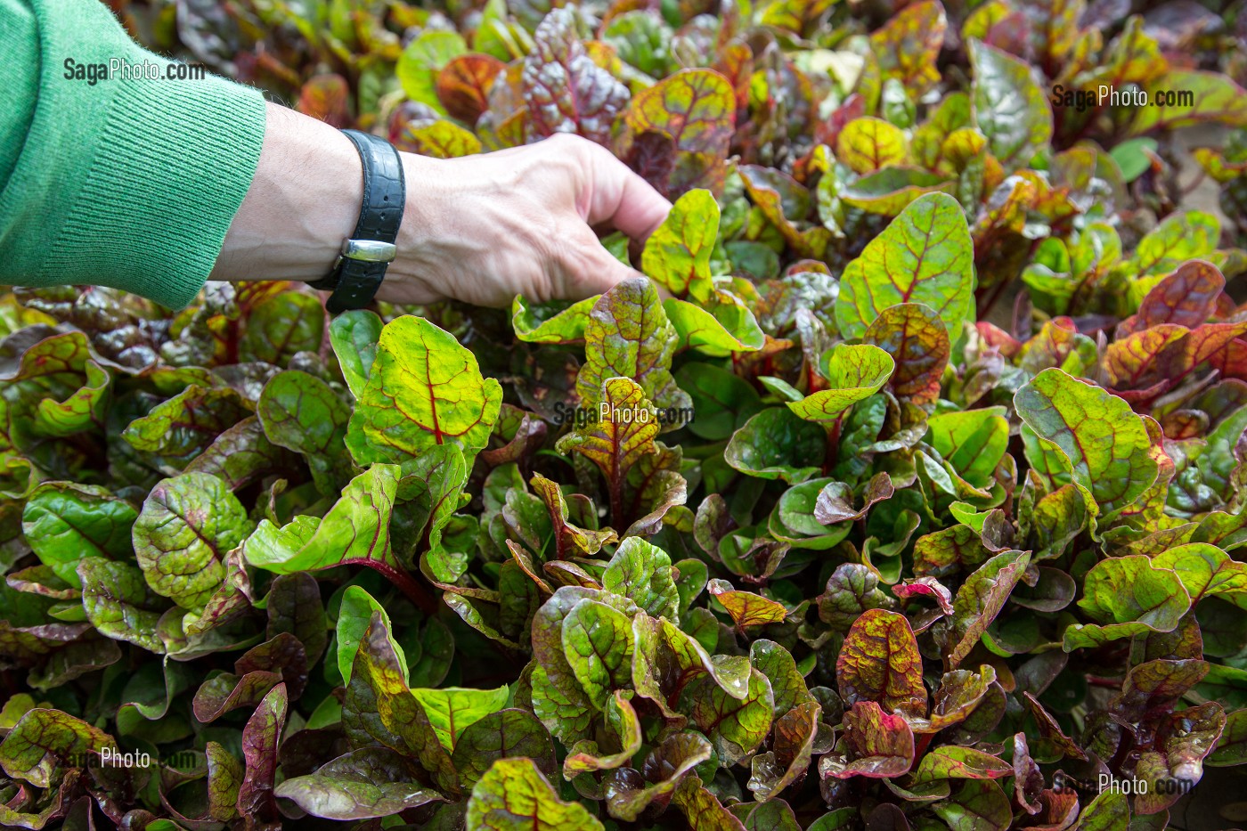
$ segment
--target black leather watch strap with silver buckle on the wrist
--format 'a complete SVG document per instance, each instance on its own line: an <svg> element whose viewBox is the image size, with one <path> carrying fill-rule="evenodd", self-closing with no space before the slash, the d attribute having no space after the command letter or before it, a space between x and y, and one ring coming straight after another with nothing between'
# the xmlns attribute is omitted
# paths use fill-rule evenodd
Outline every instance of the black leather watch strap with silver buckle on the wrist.
<svg viewBox="0 0 1247 831"><path fill-rule="evenodd" d="M325 302L333 314L373 302L385 278L385 268L398 253L394 241L407 201L403 161L394 145L358 130L342 132L355 145L364 165L364 202L355 232L342 243L333 271L308 283L312 288L333 292Z"/></svg>

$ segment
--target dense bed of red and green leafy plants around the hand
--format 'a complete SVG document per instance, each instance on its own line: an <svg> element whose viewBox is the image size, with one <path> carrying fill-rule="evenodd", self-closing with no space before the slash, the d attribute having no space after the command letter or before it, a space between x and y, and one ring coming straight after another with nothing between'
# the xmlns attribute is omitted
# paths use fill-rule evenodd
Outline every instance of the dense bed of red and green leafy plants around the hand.
<svg viewBox="0 0 1247 831"><path fill-rule="evenodd" d="M1247 261L1170 135L1247 94L1233 20L1110 6L147 9L675 210L509 314L6 296L0 825L1165 827L1247 760Z"/></svg>

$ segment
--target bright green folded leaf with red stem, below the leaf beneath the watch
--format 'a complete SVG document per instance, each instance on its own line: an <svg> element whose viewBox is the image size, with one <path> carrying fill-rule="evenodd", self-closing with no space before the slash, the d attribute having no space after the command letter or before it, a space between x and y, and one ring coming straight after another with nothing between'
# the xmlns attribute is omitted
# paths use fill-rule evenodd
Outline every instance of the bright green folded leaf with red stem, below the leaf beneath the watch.
<svg viewBox="0 0 1247 831"><path fill-rule="evenodd" d="M276 574L369 561L402 568L389 534L398 475L398 465L374 464L350 480L323 518L301 514L281 528L259 520L243 555L256 568Z"/></svg>

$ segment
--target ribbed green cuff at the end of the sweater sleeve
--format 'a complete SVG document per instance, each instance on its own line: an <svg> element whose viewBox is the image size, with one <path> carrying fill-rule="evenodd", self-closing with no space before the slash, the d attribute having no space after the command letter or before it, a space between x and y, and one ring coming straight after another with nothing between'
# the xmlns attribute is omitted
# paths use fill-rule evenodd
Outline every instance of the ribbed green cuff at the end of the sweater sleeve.
<svg viewBox="0 0 1247 831"><path fill-rule="evenodd" d="M182 308L203 287L251 186L263 96L217 77L110 84L95 158L45 273L85 271L97 284Z"/></svg>

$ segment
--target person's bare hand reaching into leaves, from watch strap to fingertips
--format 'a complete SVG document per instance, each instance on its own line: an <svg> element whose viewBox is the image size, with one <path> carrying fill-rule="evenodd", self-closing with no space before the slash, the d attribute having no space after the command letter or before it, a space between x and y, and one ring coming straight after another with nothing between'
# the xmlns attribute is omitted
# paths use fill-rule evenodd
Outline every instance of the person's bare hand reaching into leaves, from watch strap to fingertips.
<svg viewBox="0 0 1247 831"><path fill-rule="evenodd" d="M407 210L380 299L506 306L580 299L637 272L594 227L643 241L671 203L606 148L574 135L461 158L403 153Z"/></svg>

